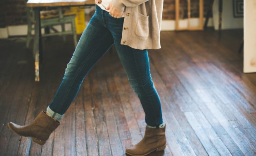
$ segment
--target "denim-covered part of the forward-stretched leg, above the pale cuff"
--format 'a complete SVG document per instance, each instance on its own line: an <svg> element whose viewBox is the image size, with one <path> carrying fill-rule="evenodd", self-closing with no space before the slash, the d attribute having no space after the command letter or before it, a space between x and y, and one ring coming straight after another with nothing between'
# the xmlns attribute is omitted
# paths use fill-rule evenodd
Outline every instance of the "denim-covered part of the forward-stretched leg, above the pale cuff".
<svg viewBox="0 0 256 156"><path fill-rule="evenodd" d="M66 112L87 73L113 44L113 37L101 20L100 10L96 10L67 64L63 80L50 103L50 110L60 115Z"/></svg>

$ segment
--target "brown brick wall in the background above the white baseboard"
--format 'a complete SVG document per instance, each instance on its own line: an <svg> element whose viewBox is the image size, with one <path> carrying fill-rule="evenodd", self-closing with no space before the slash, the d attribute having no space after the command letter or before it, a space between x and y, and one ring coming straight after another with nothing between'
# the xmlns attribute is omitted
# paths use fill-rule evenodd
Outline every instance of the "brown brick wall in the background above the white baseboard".
<svg viewBox="0 0 256 156"><path fill-rule="evenodd" d="M204 16L213 0L204 0ZM191 17L198 17L199 0L191 0ZM187 0L180 0L180 19L187 17ZM175 19L175 0L164 0L163 20ZM26 0L0 0L0 28L26 24Z"/></svg>

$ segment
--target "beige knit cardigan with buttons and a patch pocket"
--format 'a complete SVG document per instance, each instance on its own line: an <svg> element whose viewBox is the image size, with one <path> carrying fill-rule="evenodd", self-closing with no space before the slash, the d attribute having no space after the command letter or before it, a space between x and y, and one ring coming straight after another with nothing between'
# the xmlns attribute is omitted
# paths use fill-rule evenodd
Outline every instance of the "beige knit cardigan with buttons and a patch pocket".
<svg viewBox="0 0 256 156"><path fill-rule="evenodd" d="M125 11L121 44L135 49L159 49L164 0L112 0Z"/></svg>

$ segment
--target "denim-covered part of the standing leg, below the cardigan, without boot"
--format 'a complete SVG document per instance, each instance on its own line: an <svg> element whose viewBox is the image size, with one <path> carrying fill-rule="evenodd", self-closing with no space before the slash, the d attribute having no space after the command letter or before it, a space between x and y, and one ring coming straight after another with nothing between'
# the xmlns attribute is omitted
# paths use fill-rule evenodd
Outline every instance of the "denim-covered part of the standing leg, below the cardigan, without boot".
<svg viewBox="0 0 256 156"><path fill-rule="evenodd" d="M145 122L149 126L159 126L159 124L164 123L161 101L151 78L147 49L140 50L121 45L122 31L125 31L123 30L124 18L114 18L106 14L106 19L130 85L139 97L145 111Z"/></svg>

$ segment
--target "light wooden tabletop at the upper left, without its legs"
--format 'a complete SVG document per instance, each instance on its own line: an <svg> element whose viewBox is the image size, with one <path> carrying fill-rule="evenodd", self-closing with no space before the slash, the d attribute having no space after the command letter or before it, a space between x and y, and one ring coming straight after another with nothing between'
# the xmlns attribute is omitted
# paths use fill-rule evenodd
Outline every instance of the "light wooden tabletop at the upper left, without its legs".
<svg viewBox="0 0 256 156"><path fill-rule="evenodd" d="M27 7L95 5L95 0L28 0Z"/></svg>

